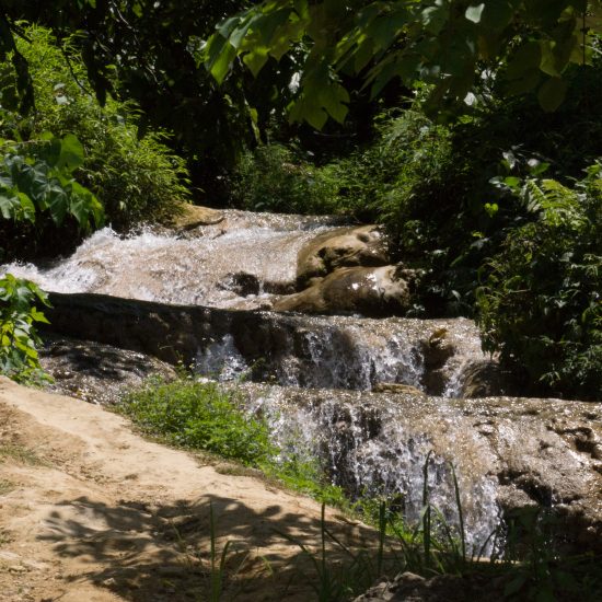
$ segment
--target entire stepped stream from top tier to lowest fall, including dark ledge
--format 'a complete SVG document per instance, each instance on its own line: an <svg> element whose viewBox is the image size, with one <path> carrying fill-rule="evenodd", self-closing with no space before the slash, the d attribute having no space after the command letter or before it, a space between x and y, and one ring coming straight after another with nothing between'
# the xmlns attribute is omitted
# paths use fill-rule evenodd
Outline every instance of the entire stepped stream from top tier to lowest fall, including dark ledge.
<svg viewBox="0 0 602 602"><path fill-rule="evenodd" d="M71 379L69 361L96 370L92 380L125 384L128 367L138 380L155 368L148 357L192 364L200 377L242 391L248 410L270 421L283 455L320 456L351 497L396 496L410 522L420 516L431 452L430 499L458 521L453 462L474 549L509 509L542 502L546 487L552 502L565 503L570 496L560 485L519 477L537 473L545 481L558 472L558 458L542 456L542 441L564 454L572 473L589 471L570 429L551 425L556 412L577 424L594 407L599 426L599 406L464 400L475 367L490 364L473 322L271 311L297 290L299 252L339 227L328 218L225 210L218 223L187 231L120 236L105 228L68 258L4 265L0 274L56 293L50 319L59 338L44 361L57 382L62 373ZM82 344L65 336L92 340L93 348L68 361ZM93 393L85 397L95 401ZM531 461L540 463L536 471L524 467ZM514 464L522 468L512 472Z"/></svg>

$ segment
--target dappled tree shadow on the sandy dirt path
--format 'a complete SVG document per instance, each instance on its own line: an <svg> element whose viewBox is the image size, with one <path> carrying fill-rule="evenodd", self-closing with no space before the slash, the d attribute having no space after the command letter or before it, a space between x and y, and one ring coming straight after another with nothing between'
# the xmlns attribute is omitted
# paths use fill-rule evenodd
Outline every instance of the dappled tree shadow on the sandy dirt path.
<svg viewBox="0 0 602 602"><path fill-rule="evenodd" d="M364 525L333 516L324 525L351 549L378 545ZM211 600L224 548L220 600L308 601L316 595L319 574L300 545L317 551L321 532L320 518L302 509L270 506L257 512L217 495L195 502L115 506L82 497L57 505L38 540L53 544L61 557L77 558L81 570L71 581L92 582L132 602ZM343 571L351 557L332 540L326 546L332 565Z"/></svg>

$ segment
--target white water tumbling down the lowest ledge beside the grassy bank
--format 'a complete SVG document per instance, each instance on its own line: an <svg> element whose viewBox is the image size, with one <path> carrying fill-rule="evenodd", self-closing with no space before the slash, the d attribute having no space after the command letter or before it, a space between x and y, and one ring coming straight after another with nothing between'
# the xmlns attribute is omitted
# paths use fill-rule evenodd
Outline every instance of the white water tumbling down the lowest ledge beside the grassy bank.
<svg viewBox="0 0 602 602"><path fill-rule="evenodd" d="M456 410L442 407L437 419L444 436L442 441L435 441L394 403L381 401L378 407L360 406L345 401L340 394L329 396L326 391L320 394L319 404L305 403L301 392L296 402L294 393L278 387L252 395L252 409L267 417L273 437L283 450L283 462L288 456L310 461L321 458L335 484L358 498L397 498L400 511L408 524L414 524L422 510L424 467L430 452L428 500L441 511L448 524L458 526L453 474L448 460L454 458L466 542L475 553L484 546L487 549L485 544L499 523L497 482L463 471L466 458L458 455L460 450L433 453L438 445L445 448L447 441L466 448L470 440L478 448L475 433L459 426ZM429 429L431 436L437 431Z"/></svg>

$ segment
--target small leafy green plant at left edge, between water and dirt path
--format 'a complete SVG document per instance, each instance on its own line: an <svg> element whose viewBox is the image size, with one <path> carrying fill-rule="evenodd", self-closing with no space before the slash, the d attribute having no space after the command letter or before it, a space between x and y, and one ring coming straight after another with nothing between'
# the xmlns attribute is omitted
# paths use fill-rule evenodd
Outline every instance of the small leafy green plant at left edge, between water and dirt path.
<svg viewBox="0 0 602 602"><path fill-rule="evenodd" d="M36 303L49 304L36 285L10 274L0 278L0 373L16 381L35 382L43 378L35 323L47 320Z"/></svg>

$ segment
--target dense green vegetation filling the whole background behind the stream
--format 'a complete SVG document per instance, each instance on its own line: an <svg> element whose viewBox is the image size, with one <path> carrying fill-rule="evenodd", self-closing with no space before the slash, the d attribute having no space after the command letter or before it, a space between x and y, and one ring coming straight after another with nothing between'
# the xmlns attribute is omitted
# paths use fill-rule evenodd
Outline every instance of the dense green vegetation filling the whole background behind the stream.
<svg viewBox="0 0 602 602"><path fill-rule="evenodd" d="M532 392L599 395L600 2L204 8L8 3L4 256L170 215L188 165L213 201L384 223L415 313L477 317Z"/></svg>

